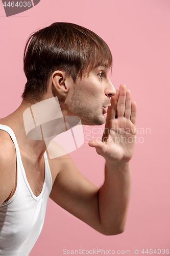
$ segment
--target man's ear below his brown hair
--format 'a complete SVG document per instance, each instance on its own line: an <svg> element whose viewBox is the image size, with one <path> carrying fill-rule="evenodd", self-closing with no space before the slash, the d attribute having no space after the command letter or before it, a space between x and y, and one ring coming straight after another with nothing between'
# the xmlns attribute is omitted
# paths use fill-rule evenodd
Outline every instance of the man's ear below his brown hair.
<svg viewBox="0 0 170 256"><path fill-rule="evenodd" d="M66 74L63 71L56 70L52 74L52 82L55 90L62 96L66 96L68 93L68 87L66 86Z"/></svg>

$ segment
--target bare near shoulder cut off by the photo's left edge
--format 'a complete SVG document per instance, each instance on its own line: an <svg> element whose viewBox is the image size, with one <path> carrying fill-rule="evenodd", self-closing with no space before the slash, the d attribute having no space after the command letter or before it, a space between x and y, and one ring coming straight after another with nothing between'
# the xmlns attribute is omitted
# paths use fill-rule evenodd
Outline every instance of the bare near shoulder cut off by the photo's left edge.
<svg viewBox="0 0 170 256"><path fill-rule="evenodd" d="M16 184L16 153L9 134L0 130L0 205L10 198Z"/></svg>

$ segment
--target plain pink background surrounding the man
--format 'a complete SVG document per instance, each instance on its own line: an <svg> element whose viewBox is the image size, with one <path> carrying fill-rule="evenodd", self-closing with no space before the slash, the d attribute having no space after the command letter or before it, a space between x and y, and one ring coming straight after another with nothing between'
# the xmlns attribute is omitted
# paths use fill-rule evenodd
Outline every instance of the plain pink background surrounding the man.
<svg viewBox="0 0 170 256"><path fill-rule="evenodd" d="M116 89L125 83L132 100L137 102L138 143L131 161L132 195L126 230L111 237L98 233L49 200L42 233L30 255L63 255L64 248L131 250L131 254L133 249L139 249L139 255L143 255L142 249L167 249L170 244L170 1L41 0L34 8L8 18L1 2L0 118L13 112L21 102L26 83L22 71L23 48L28 36L59 21L87 27L107 42L113 54L111 81ZM96 126L93 132L94 127L91 132L85 127L84 145L70 155L80 172L100 186L104 160L86 142L90 138L88 133L101 137L101 126Z"/></svg>

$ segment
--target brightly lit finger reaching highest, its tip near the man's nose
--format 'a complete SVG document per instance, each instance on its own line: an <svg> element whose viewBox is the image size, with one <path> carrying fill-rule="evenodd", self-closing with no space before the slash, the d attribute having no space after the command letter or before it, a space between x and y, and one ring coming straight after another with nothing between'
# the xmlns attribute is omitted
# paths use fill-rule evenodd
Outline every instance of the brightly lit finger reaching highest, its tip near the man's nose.
<svg viewBox="0 0 170 256"><path fill-rule="evenodd" d="M121 84L119 87L119 97L117 101L117 117L124 117L125 113L125 101L126 101L126 86Z"/></svg>

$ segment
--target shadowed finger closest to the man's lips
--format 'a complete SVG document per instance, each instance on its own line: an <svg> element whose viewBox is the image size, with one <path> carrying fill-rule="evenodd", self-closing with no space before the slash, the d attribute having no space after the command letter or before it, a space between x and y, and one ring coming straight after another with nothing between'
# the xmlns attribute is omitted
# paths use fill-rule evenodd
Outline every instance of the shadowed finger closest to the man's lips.
<svg viewBox="0 0 170 256"><path fill-rule="evenodd" d="M119 96L119 91L116 90L116 94L111 97L111 106L109 106L107 110L106 125L109 123L110 120L114 119L116 116L116 106L117 106L118 96Z"/></svg>

